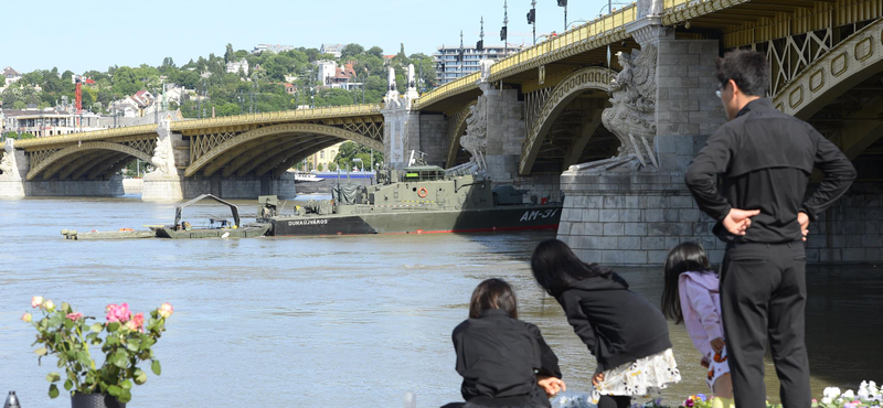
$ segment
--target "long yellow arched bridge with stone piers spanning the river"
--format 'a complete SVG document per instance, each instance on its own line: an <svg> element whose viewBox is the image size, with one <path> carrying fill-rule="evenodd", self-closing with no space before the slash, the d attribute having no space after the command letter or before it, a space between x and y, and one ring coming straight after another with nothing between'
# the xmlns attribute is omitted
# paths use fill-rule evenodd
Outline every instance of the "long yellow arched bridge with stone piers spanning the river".
<svg viewBox="0 0 883 408"><path fill-rule="evenodd" d="M383 149L392 165L419 150L429 163L479 168L534 195L554 200L563 191L558 236L585 258L658 262L669 244L695 237L720 255L681 174L724 120L712 74L716 58L734 49L765 52L775 105L839 146L862 181L883 180L883 0L639 0L501 61L482 61L479 73L424 95L413 86L404 95L391 90L382 106L8 142L0 195L113 182L135 158L157 167L145 198L285 195L292 185L287 168L352 140ZM881 201L873 189L866 196ZM880 217L880 210L870 214ZM870 222L870 229L853 228L862 230L853 241L872 238L851 258L880 257L880 245L872 250L879 221ZM830 246L845 238L825 239Z"/></svg>

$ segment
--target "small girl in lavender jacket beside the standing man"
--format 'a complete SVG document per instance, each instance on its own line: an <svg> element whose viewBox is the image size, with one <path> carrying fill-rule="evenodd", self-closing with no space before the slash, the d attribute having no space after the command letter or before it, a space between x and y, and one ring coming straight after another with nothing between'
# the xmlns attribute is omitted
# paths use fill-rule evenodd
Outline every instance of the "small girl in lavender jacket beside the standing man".
<svg viewBox="0 0 883 408"><path fill-rule="evenodd" d="M717 275L711 269L701 245L683 243L669 253L662 312L673 319L674 324L684 323L690 339L702 353L702 366L709 368L705 380L717 397L712 402L713 408L733 405L719 288Z"/></svg>

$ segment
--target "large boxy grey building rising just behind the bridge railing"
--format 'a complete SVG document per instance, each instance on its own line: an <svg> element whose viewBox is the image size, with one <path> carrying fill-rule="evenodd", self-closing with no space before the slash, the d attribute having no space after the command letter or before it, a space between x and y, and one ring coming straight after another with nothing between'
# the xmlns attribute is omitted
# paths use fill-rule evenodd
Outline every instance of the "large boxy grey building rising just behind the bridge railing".
<svg viewBox="0 0 883 408"><path fill-rule="evenodd" d="M454 79L476 73L480 69L479 61L500 61L521 50L513 45L486 45L483 51L475 47L460 49L459 46L439 46L433 54L436 66L436 77L439 84L447 84ZM458 57L462 53L462 60Z"/></svg>

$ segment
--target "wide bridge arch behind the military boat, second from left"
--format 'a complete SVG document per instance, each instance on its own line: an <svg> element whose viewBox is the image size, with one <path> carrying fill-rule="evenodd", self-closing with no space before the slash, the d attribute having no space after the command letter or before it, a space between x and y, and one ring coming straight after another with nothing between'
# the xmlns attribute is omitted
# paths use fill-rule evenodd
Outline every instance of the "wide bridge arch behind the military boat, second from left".
<svg viewBox="0 0 883 408"><path fill-rule="evenodd" d="M258 169L265 173L268 170L264 164L268 161L277 163L276 165L294 163L325 147L345 140L383 150L383 142L339 127L318 124L273 125L224 140L195 158L184 170L184 175L192 176L203 170L208 176L225 167L227 169L224 170L224 174L227 175L233 172L244 175L243 169L247 169L245 172ZM254 151L276 152L276 154L254 154ZM245 155L248 159L242 160Z"/></svg>

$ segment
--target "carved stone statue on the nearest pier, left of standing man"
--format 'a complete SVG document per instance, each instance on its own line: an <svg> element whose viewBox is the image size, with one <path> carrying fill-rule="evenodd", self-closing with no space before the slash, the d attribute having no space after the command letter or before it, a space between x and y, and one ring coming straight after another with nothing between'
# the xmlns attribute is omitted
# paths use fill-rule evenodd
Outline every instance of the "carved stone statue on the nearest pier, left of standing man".
<svg viewBox="0 0 883 408"><path fill-rule="evenodd" d="M611 107L604 110L602 122L619 139L620 159L638 160L647 165L653 153L656 137L656 63L657 49L648 44L642 51L616 54L623 71L610 82ZM658 167L658 165L657 165Z"/></svg>

